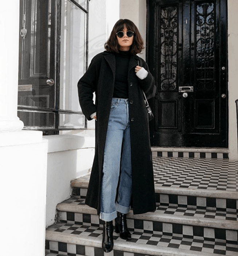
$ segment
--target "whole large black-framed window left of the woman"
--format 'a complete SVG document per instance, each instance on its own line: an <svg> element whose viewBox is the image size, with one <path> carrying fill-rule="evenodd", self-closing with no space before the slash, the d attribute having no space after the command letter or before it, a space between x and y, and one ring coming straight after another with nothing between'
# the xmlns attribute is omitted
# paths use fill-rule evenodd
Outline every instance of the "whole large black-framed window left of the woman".
<svg viewBox="0 0 238 256"><path fill-rule="evenodd" d="M85 129L77 82L87 68L88 0L20 0L18 116L24 129Z"/></svg>

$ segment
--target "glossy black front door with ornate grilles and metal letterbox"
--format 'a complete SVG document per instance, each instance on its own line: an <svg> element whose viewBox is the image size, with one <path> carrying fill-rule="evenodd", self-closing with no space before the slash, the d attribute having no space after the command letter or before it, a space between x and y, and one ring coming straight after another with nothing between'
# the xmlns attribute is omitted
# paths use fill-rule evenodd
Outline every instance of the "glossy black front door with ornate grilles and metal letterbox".
<svg viewBox="0 0 238 256"><path fill-rule="evenodd" d="M153 144L228 147L226 0L149 0Z"/></svg>

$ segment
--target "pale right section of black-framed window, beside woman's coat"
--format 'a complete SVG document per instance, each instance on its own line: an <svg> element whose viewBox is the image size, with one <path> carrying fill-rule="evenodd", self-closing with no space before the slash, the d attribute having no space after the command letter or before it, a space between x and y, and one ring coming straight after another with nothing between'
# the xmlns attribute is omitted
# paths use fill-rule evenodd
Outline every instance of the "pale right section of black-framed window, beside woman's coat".
<svg viewBox="0 0 238 256"><path fill-rule="evenodd" d="M83 8L84 7L84 8ZM87 65L87 2L62 1L59 129L85 127L77 83ZM87 8L86 8L87 9Z"/></svg>

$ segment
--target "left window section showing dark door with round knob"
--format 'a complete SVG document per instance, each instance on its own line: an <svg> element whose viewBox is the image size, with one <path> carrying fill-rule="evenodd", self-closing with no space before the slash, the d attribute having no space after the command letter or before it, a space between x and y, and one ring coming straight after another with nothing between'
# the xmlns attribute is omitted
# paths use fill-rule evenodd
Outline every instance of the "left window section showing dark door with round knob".
<svg viewBox="0 0 238 256"><path fill-rule="evenodd" d="M55 128L55 18L51 0L20 1L18 116L25 128Z"/></svg>

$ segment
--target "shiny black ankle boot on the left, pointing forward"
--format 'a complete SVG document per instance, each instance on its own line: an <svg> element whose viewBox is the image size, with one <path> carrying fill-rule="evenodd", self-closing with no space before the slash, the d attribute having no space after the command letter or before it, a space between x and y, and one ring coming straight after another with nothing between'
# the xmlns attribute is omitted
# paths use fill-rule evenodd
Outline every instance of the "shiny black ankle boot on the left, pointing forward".
<svg viewBox="0 0 238 256"><path fill-rule="evenodd" d="M104 221L102 233L102 249L104 252L110 252L113 249L113 223Z"/></svg>

